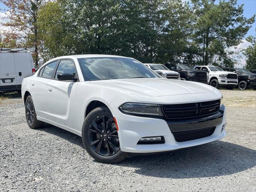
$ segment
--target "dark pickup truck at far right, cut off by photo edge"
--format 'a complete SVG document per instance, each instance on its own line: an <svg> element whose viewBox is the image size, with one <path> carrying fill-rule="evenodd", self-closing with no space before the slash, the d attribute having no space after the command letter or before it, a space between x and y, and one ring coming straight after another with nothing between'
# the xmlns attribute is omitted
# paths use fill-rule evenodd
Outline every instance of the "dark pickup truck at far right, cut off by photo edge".
<svg viewBox="0 0 256 192"><path fill-rule="evenodd" d="M256 88L256 74L240 68L225 68L224 70L238 74L238 88L240 90Z"/></svg>

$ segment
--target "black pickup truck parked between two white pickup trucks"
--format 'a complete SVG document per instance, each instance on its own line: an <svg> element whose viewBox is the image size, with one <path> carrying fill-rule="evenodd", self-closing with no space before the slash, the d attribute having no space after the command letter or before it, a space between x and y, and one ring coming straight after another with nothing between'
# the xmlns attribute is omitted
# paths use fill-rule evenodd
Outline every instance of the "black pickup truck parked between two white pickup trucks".
<svg viewBox="0 0 256 192"><path fill-rule="evenodd" d="M195 70L187 64L165 64L165 66L170 70L178 72L181 80L207 83L208 74L205 71Z"/></svg>

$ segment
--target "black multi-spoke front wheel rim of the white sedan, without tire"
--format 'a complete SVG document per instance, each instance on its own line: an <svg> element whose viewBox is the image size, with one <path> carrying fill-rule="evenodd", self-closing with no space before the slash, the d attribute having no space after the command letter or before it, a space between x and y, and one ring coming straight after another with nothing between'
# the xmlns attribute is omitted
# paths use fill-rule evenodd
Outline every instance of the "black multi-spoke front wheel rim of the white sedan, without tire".
<svg viewBox="0 0 256 192"><path fill-rule="evenodd" d="M87 136L91 148L101 156L112 156L120 150L116 123L112 116L95 117L89 125Z"/></svg>

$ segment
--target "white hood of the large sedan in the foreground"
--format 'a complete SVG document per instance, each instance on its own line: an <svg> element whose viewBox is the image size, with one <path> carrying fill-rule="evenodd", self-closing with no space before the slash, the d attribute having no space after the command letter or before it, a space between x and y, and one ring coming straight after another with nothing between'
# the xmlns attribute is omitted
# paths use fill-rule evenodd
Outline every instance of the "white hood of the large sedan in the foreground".
<svg viewBox="0 0 256 192"><path fill-rule="evenodd" d="M122 94L141 94L147 96L195 94L214 91L212 86L206 84L166 78L99 80L91 81L90 83L119 91Z"/></svg>

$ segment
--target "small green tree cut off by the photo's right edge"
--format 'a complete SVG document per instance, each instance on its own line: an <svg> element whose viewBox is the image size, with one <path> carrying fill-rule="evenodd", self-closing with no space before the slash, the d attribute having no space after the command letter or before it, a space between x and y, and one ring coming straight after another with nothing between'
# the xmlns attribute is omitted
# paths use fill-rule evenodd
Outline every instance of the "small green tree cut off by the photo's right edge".
<svg viewBox="0 0 256 192"><path fill-rule="evenodd" d="M246 40L252 45L250 45L248 48L244 49L244 55L246 58L246 69L256 69L256 37L248 36Z"/></svg>

